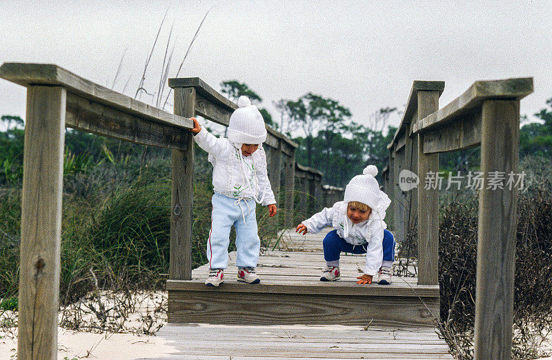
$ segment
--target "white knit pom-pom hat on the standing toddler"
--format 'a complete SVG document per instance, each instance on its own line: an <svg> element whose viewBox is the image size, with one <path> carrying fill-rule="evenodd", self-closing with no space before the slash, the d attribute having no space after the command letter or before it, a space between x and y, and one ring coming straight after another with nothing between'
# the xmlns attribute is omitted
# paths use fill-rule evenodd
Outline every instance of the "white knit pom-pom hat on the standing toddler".
<svg viewBox="0 0 552 360"><path fill-rule="evenodd" d="M239 108L230 116L228 139L233 143L263 143L266 140L266 128L257 106L251 105L249 98L243 95L237 99L237 106Z"/></svg>

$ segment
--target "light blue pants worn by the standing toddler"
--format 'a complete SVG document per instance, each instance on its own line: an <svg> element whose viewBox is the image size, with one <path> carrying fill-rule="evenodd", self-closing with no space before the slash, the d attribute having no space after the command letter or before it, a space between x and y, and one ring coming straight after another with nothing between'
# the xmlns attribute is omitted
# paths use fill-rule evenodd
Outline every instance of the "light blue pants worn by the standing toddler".
<svg viewBox="0 0 552 360"><path fill-rule="evenodd" d="M215 193L211 202L211 231L207 241L207 259L209 268L228 268L228 245L230 244L230 228L236 228L236 266L238 268L257 266L261 239L257 233L257 218L255 217L255 200L242 200L235 205L236 199ZM241 209L240 209L241 207ZM244 223L245 216L246 222Z"/></svg>

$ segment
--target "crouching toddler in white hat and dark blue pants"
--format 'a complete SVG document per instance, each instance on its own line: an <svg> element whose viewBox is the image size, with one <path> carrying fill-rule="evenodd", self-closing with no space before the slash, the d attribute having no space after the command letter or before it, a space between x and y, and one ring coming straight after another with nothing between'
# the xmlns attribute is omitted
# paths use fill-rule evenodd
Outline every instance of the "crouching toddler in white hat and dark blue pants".
<svg viewBox="0 0 552 360"><path fill-rule="evenodd" d="M391 283L393 261L395 260L395 240L386 230L385 210L391 203L389 197L380 190L375 179L377 168L368 165L362 175L351 179L345 188L343 201L331 208L324 208L297 226L295 231L306 234L317 233L332 226L322 243L326 270L320 281L339 279L339 254L349 252L366 254L364 274L357 283L372 283L378 274L377 283Z"/></svg>

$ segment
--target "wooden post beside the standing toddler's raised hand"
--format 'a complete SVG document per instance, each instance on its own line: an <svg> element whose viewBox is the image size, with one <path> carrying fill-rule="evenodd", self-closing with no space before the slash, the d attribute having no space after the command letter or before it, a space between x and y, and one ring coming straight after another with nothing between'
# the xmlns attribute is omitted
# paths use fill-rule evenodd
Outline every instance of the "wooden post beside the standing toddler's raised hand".
<svg viewBox="0 0 552 360"><path fill-rule="evenodd" d="M195 88L175 89L175 114L195 116ZM190 132L186 150L172 150L170 201L170 280L192 279L192 209L194 199L194 140Z"/></svg>

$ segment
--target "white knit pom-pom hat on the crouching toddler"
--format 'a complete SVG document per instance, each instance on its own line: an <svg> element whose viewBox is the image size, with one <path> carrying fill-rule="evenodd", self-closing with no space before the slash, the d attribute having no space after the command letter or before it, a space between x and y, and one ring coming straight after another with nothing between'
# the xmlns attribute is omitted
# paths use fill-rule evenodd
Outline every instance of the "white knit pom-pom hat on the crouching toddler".
<svg viewBox="0 0 552 360"><path fill-rule="evenodd" d="M357 175L349 181L345 188L344 203L358 201L370 206L373 212L380 214L382 220L385 217L385 210L391 203L391 200L385 192L380 190L380 185L377 183L375 176L377 168L373 165L368 165L362 172L362 175Z"/></svg>

